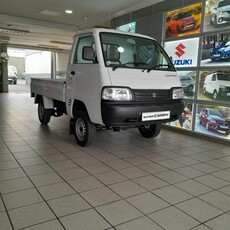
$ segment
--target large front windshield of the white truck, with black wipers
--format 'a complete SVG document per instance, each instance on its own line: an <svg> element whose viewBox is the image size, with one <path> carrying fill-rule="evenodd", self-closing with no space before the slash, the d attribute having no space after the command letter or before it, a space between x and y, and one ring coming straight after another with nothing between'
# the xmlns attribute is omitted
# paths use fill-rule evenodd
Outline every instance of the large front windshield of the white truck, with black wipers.
<svg viewBox="0 0 230 230"><path fill-rule="evenodd" d="M132 35L100 34L105 66L143 70L175 68L163 48L154 40Z"/></svg>

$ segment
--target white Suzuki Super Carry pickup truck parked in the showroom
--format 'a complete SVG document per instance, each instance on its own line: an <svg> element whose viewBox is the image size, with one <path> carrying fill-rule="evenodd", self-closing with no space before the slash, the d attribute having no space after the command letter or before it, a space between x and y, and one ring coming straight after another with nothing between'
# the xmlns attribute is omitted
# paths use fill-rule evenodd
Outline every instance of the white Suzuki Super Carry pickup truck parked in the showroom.
<svg viewBox="0 0 230 230"><path fill-rule="evenodd" d="M70 116L70 134L80 146L96 131L138 128L156 137L161 123L183 111L183 90L164 49L151 37L112 29L79 32L65 80L31 79L41 124Z"/></svg>

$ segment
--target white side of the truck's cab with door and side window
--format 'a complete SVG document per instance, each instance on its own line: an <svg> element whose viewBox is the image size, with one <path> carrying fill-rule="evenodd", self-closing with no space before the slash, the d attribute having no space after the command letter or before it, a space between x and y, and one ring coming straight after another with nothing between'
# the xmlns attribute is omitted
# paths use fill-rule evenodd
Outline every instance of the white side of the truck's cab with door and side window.
<svg viewBox="0 0 230 230"><path fill-rule="evenodd" d="M91 47L91 49L90 49ZM83 102L93 123L101 121L100 116L100 75L92 34L78 38L73 57L68 66L66 107L73 116L74 102ZM93 51L94 57L87 59L83 53L85 48Z"/></svg>

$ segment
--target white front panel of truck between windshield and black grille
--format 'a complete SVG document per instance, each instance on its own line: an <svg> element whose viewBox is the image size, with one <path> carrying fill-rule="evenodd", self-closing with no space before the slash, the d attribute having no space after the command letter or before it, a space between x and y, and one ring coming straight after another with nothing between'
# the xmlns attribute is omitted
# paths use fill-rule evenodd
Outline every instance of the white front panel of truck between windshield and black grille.
<svg viewBox="0 0 230 230"><path fill-rule="evenodd" d="M174 71L108 68L112 86L124 86L132 89L170 89L181 87L177 73Z"/></svg>

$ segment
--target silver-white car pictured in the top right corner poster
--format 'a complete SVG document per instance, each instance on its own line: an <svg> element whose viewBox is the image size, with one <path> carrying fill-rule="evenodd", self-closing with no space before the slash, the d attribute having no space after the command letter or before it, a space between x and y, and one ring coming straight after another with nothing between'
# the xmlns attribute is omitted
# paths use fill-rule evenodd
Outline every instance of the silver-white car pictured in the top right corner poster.
<svg viewBox="0 0 230 230"><path fill-rule="evenodd" d="M211 24L230 22L230 0L220 0L212 10Z"/></svg>

